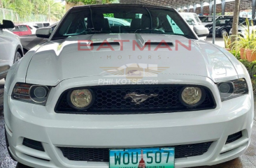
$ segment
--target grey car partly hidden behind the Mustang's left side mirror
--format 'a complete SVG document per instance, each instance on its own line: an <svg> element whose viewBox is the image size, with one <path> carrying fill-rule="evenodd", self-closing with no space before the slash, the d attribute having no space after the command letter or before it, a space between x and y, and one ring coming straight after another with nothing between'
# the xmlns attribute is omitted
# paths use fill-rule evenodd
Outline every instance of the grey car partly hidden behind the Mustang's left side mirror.
<svg viewBox="0 0 256 168"><path fill-rule="evenodd" d="M56 22L55 24L52 24L48 27L51 27L53 31L58 23L59 22ZM20 43L22 44L24 54L26 54L31 48L35 47L36 45L44 43L46 40L47 38L36 37L36 34L20 36Z"/></svg>

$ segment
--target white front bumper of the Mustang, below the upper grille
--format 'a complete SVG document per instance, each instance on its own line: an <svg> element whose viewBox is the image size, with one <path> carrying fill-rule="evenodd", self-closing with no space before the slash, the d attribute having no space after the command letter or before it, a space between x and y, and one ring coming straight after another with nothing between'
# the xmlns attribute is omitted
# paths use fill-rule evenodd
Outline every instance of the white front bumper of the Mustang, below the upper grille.
<svg viewBox="0 0 256 168"><path fill-rule="evenodd" d="M249 95L222 102L220 108L198 112L140 115L73 115L49 113L46 107L12 100L6 93L5 114L10 153L30 167L99 167L108 162L71 161L57 146L132 148L213 142L203 155L176 159L176 167L215 165L246 151L253 127ZM243 137L226 144L227 137ZM22 145L24 137L42 142L43 151Z"/></svg>

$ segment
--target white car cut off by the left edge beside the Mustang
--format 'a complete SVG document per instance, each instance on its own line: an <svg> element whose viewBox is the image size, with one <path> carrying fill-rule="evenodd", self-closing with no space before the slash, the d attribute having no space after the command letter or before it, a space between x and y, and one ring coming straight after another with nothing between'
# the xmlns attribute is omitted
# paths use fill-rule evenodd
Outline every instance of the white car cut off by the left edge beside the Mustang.
<svg viewBox="0 0 256 168"><path fill-rule="evenodd" d="M10 66L23 56L19 36L7 30L11 28L14 24L9 20L0 23L0 79L5 78Z"/></svg>

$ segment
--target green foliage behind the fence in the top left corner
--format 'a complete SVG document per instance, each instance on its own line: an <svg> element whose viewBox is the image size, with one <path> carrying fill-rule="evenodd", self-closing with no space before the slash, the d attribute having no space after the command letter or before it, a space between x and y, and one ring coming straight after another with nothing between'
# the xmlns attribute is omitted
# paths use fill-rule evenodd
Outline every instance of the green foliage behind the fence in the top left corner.
<svg viewBox="0 0 256 168"><path fill-rule="evenodd" d="M1 0L3 8L16 12L24 18L31 14L47 15L48 19L60 20L65 13L65 6L55 0Z"/></svg>

